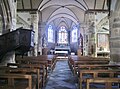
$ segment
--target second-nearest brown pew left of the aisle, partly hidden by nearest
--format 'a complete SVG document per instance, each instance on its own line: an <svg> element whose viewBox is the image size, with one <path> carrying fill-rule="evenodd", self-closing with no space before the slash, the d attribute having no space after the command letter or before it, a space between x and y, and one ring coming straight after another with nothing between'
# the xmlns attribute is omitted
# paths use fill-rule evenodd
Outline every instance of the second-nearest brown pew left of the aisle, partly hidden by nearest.
<svg viewBox="0 0 120 89"><path fill-rule="evenodd" d="M40 70L39 69L35 69L35 68L11 68L11 67L3 67L0 68L1 71L4 70L4 73L7 74L30 74L33 77L34 82L36 82L35 85L36 88L35 89L41 89L41 85L42 85L42 78L40 76ZM2 73L2 72L1 72Z"/></svg>

